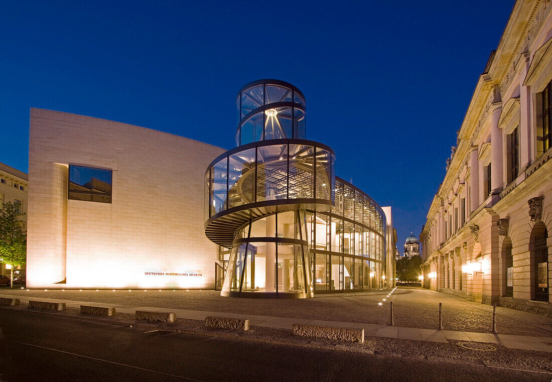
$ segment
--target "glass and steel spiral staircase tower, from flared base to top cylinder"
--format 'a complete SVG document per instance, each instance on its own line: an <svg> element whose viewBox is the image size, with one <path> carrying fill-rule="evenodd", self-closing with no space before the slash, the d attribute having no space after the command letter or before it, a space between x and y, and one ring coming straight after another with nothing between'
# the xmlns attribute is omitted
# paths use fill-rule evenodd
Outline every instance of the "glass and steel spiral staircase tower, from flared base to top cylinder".
<svg viewBox="0 0 552 382"><path fill-rule="evenodd" d="M306 210L332 209L335 153L305 139L305 97L290 83L248 83L237 107L237 147L205 172L205 234L231 248L221 295L312 297Z"/></svg>

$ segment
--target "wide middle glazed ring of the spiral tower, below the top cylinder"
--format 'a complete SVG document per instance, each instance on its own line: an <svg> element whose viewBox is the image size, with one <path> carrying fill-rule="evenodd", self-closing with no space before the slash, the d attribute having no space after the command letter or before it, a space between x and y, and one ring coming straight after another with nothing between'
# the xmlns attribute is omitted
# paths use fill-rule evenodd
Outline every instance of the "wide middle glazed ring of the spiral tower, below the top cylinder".
<svg viewBox="0 0 552 382"><path fill-rule="evenodd" d="M293 199L319 199L331 204L334 162L331 148L306 140L237 147L211 162L205 173L205 216L271 200L285 199L293 204Z"/></svg>

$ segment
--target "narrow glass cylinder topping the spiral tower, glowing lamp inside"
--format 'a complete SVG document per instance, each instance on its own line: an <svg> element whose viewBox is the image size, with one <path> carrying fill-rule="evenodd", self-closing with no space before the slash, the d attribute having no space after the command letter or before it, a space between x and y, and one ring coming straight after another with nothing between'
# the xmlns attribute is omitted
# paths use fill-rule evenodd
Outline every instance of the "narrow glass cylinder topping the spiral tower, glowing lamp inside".
<svg viewBox="0 0 552 382"><path fill-rule="evenodd" d="M236 145L272 139L306 137L306 103L301 91L278 79L244 86L237 97L240 122Z"/></svg>

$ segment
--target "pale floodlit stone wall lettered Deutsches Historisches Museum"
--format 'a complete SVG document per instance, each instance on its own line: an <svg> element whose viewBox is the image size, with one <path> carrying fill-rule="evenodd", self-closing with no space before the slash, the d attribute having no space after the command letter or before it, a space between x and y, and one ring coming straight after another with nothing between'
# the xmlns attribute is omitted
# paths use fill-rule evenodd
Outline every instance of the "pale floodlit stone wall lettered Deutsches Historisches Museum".
<svg viewBox="0 0 552 382"><path fill-rule="evenodd" d="M30 288L214 288L204 169L224 150L31 109Z"/></svg>

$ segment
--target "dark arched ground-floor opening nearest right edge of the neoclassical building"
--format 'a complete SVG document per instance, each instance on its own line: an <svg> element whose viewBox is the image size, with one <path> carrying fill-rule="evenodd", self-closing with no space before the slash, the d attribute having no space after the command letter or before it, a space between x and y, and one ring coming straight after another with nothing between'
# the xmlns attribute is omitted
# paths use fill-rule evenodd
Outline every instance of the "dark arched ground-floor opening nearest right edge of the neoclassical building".
<svg viewBox="0 0 552 382"><path fill-rule="evenodd" d="M531 268L531 297L533 300L548 301L548 230L544 223L535 224L529 241Z"/></svg>

